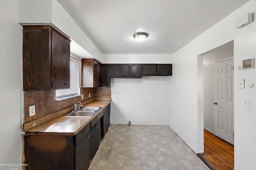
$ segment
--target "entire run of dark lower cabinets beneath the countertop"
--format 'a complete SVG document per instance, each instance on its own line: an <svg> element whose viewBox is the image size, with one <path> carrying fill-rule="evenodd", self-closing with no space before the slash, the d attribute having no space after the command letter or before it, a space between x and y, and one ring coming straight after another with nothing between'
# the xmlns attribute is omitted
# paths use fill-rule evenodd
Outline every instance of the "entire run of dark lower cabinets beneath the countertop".
<svg viewBox="0 0 256 170"><path fill-rule="evenodd" d="M25 170L87 170L109 124L110 104L75 136L26 134Z"/></svg>

